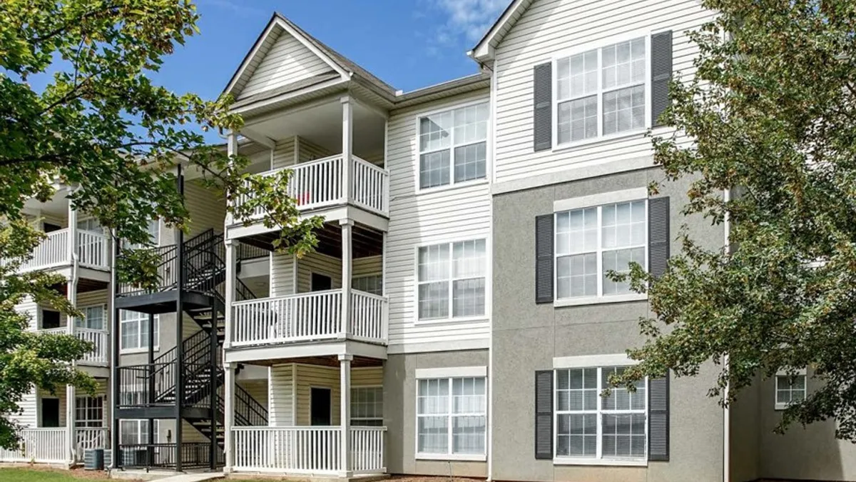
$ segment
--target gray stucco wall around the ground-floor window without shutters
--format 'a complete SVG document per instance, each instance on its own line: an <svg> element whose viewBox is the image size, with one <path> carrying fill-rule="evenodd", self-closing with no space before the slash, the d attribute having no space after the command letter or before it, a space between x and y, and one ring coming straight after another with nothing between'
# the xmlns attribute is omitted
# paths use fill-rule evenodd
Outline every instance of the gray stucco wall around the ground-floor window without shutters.
<svg viewBox="0 0 856 482"><path fill-rule="evenodd" d="M486 477L483 461L416 460L416 369L487 366L487 350L389 355L383 367L383 419L389 473ZM490 396L490 393L488 393Z"/></svg>

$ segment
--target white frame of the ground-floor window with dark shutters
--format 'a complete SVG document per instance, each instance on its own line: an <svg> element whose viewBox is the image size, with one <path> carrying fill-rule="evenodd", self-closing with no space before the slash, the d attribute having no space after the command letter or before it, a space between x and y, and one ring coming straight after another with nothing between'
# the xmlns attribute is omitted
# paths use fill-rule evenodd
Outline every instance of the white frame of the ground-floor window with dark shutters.
<svg viewBox="0 0 856 482"><path fill-rule="evenodd" d="M586 355L578 357L562 357L553 358L553 463L555 465L581 465L581 466L633 466L645 467L648 465L648 442L650 434L648 433L648 423L651 417L651 409L648 404L648 395L651 390L651 383L648 377L645 377L645 455L639 458L603 458L603 413L607 414L631 414L639 413L639 410L604 410L603 397L600 396L601 387L603 386L603 369L615 367L628 367L639 364L639 361L628 358L626 354L618 353L611 355ZM580 370L586 368L597 369L597 409L591 411L596 414L597 420L597 453L595 457L571 457L567 455L558 455L558 437L559 415L559 371L562 370ZM582 413L581 411L562 412L566 413ZM589 411L586 411L589 413Z"/></svg>

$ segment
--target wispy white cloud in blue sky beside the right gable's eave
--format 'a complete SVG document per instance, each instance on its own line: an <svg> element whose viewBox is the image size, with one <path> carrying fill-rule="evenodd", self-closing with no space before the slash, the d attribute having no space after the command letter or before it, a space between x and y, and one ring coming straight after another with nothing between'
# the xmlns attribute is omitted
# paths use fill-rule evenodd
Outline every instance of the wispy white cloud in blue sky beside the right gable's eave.
<svg viewBox="0 0 856 482"><path fill-rule="evenodd" d="M461 37L470 44L479 41L511 0L434 1L443 15L448 17L446 23L437 30L437 42L449 45Z"/></svg>

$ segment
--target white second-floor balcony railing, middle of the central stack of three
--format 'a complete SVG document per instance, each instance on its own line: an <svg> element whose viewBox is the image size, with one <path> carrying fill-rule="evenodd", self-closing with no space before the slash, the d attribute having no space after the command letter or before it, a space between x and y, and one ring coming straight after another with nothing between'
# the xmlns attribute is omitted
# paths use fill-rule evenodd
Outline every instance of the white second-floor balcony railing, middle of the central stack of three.
<svg viewBox="0 0 856 482"><path fill-rule="evenodd" d="M232 304L232 346L353 338L386 342L386 298L351 292L351 319L342 322L342 290L259 298Z"/></svg>

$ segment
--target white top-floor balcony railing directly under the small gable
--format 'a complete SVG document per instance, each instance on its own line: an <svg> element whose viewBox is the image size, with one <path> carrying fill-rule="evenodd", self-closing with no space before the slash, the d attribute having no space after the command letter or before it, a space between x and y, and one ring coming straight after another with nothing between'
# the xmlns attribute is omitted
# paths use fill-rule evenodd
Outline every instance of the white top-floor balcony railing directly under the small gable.
<svg viewBox="0 0 856 482"><path fill-rule="evenodd" d="M282 169L290 169L292 175L288 182L288 196L294 198L300 210L351 203L377 214L387 214L389 172L356 156L352 156L351 164L353 178L350 196L346 196L344 189L345 165L342 154L275 169L263 175L272 176ZM237 203L248 202L252 196L241 196ZM262 208L256 208L253 212L254 218L264 216Z"/></svg>

